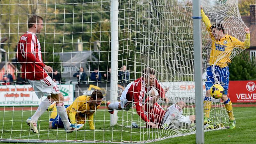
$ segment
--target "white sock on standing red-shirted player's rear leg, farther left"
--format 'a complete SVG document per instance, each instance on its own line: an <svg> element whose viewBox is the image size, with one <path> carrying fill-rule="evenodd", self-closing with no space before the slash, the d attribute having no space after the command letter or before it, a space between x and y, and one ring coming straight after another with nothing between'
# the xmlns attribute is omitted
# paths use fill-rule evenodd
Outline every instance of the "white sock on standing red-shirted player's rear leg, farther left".
<svg viewBox="0 0 256 144"><path fill-rule="evenodd" d="M31 120L37 122L38 118L48 109L48 107L50 105L51 105L51 102L50 102L50 100L47 97L46 99L44 99L44 101L42 101L40 103L40 105L38 106L36 112L31 117Z"/></svg>

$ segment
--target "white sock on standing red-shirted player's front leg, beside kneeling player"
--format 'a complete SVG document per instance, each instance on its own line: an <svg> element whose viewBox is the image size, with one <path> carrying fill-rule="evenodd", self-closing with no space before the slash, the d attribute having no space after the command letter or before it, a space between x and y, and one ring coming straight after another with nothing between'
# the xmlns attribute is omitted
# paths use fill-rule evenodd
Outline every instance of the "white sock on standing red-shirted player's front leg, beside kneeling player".
<svg viewBox="0 0 256 144"><path fill-rule="evenodd" d="M69 128L70 122L68 120L68 115L66 112L66 108L64 107L64 102L57 104L56 103L56 108L57 108L57 113L59 114L65 129Z"/></svg>

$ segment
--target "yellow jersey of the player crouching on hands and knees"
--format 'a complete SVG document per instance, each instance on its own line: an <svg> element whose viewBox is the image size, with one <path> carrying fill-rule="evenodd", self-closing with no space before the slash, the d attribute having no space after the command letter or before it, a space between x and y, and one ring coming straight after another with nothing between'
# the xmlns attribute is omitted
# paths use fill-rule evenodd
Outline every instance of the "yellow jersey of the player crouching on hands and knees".
<svg viewBox="0 0 256 144"><path fill-rule="evenodd" d="M90 129L95 129L93 125L93 113L100 107L95 105L89 106L90 96L81 95L67 107L66 111L71 124L84 124L88 117Z"/></svg>

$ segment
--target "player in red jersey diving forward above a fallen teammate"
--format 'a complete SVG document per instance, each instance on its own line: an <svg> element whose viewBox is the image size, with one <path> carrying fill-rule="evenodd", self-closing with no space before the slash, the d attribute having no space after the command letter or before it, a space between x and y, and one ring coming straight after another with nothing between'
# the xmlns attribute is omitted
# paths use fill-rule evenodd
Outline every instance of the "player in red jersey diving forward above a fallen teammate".
<svg viewBox="0 0 256 144"><path fill-rule="evenodd" d="M142 99L144 95L151 90L152 87L154 87L158 91L160 97L164 98L165 90L156 80L154 70L152 68L144 69L142 72L142 77L129 83L125 87L120 98L121 102L107 102L108 112L113 114L114 110L130 110L132 107L132 103L134 102L134 104L136 105L137 114L141 117L141 119L147 122L148 125L151 125L152 127L157 127L157 125L150 122L150 120L144 114L144 110L142 107Z"/></svg>

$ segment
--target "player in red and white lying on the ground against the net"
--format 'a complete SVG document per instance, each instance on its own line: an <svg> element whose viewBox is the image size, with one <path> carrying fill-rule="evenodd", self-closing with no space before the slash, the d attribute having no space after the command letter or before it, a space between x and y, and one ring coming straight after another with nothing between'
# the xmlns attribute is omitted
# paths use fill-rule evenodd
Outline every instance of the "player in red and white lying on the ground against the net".
<svg viewBox="0 0 256 144"><path fill-rule="evenodd" d="M148 96L145 100L144 111L150 122L158 125L159 128L168 128L172 120L177 120L180 125L190 125L195 122L195 115L183 116L182 109L186 106L185 102L176 102L166 110L157 103L160 98L159 95L155 96L155 92L152 91L151 96Z"/></svg>

